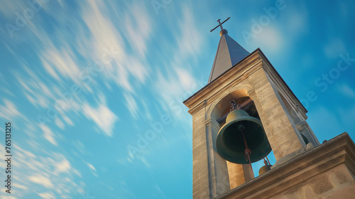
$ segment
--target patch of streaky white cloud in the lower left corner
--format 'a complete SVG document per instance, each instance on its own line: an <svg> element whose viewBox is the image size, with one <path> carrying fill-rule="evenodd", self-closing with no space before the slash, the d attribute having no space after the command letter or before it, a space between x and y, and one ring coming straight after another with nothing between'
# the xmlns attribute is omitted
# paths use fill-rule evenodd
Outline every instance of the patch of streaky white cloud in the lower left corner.
<svg viewBox="0 0 355 199"><path fill-rule="evenodd" d="M13 166L18 174L13 178L21 182L15 185L21 192L16 192L15 196L23 198L23 195L35 191L38 194L43 193L42 198L58 198L55 196L57 194L60 198L68 198L70 194L75 193L78 185L73 179L81 177L81 174L72 167L63 154L52 151L46 151L44 154L47 156L43 155L43 148L38 151L27 151L16 146L13 155L17 157L17 161ZM0 166L3 166L2 162ZM61 190L65 192L62 193Z"/></svg>

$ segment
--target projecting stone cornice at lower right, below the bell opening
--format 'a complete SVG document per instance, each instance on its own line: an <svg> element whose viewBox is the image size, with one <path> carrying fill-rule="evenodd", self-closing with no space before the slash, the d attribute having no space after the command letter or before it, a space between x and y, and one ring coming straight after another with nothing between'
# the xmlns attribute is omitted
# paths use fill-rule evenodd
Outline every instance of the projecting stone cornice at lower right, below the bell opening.
<svg viewBox="0 0 355 199"><path fill-rule="evenodd" d="M349 134L340 134L217 198L273 198L339 165L345 165L351 176L354 176L354 162L354 141Z"/></svg>

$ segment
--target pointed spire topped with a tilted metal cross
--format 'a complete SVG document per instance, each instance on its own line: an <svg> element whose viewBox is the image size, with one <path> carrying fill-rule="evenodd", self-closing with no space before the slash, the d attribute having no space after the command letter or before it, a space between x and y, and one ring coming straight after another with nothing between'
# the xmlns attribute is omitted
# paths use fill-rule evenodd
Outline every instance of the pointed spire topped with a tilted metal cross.
<svg viewBox="0 0 355 199"><path fill-rule="evenodd" d="M229 18L227 18L222 23L226 22L228 19ZM219 75L222 75L224 72L226 72L226 70L229 70L229 68L236 65L236 63L239 63L239 61L245 58L246 55L249 55L249 52L241 47L239 43L234 41L234 39L228 35L228 31L226 31L226 29L223 29L220 19L218 22L219 25L213 28L211 32L220 26L221 31L219 32L219 35L221 36L221 39L219 40L217 53L214 57L214 62L208 82L212 82L217 77L219 77Z"/></svg>

